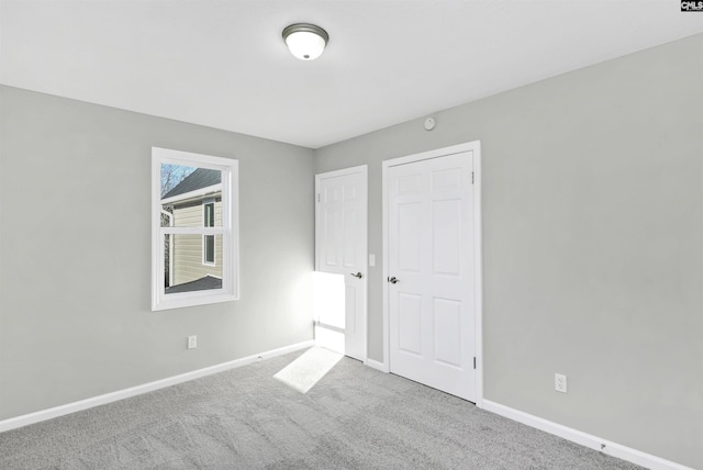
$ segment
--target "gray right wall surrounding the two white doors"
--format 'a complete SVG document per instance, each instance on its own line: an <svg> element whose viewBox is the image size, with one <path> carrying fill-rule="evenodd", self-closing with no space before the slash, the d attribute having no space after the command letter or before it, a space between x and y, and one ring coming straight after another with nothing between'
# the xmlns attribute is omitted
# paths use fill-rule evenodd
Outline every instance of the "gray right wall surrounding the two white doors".
<svg viewBox="0 0 703 470"><path fill-rule="evenodd" d="M698 35L319 149L369 165L369 356L381 161L480 139L486 399L703 468L702 83Z"/></svg>

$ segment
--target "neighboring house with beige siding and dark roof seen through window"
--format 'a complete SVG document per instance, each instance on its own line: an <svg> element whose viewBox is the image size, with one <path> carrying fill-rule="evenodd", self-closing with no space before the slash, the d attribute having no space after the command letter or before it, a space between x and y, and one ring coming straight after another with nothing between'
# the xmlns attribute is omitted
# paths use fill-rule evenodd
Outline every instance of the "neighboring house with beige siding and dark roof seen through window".
<svg viewBox="0 0 703 470"><path fill-rule="evenodd" d="M222 226L221 171L198 168L166 192L161 223ZM165 244L166 293L222 288L222 235L171 234Z"/></svg>

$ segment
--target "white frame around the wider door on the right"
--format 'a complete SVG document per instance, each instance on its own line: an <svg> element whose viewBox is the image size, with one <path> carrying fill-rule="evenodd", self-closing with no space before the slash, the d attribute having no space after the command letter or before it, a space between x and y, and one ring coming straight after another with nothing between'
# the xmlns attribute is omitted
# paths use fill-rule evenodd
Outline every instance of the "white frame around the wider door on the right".
<svg viewBox="0 0 703 470"><path fill-rule="evenodd" d="M382 370L390 372L390 312L389 286L386 280L390 276L389 230L388 230L388 172L391 167L405 165L447 155L472 152L473 155L473 279L476 292L476 405L483 407L483 277L481 250L481 142L473 141L436 150L423 152L405 157L383 160L383 362Z"/></svg>

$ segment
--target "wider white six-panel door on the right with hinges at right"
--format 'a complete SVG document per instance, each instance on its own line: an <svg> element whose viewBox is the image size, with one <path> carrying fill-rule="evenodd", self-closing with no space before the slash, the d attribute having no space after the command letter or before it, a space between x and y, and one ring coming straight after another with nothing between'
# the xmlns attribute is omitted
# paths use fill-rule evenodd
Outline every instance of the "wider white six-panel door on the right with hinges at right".
<svg viewBox="0 0 703 470"><path fill-rule="evenodd" d="M392 161L392 160L391 160ZM473 152L388 166L390 371L476 401Z"/></svg>

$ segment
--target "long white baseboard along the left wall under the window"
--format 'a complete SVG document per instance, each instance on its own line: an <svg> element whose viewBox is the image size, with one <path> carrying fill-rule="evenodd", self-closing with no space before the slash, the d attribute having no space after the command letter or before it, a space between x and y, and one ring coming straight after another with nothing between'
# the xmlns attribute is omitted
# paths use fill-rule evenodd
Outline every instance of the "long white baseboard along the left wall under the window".
<svg viewBox="0 0 703 470"><path fill-rule="evenodd" d="M53 409L42 410L22 416L0 421L0 433L26 426L29 424L34 424L54 417L63 416L66 414L76 413L78 411L88 410L94 406L116 402L119 400L129 399L130 396L141 395L142 393L152 392L154 390L164 389L166 387L176 385L182 382L188 382L189 380L199 379L201 377L210 376L213 373L224 372L225 370L236 369L237 367L248 366L249 363L254 363L261 359L282 356L288 352L293 352L300 349L312 347L313 345L314 342L311 339L282 348L271 349L269 351L260 352L254 356L243 357L242 359L235 359L228 362L219 363L216 366L205 367L204 369L193 370L192 372L186 372L179 376L169 377L167 379L157 380L155 382L148 382L142 385L119 390L116 392L105 393L104 395L98 395L91 399L80 400L78 402L67 403L65 405L55 406Z"/></svg>

